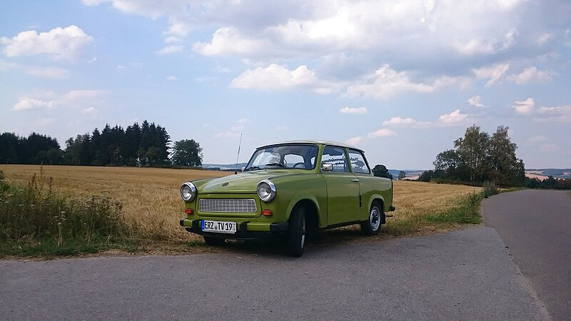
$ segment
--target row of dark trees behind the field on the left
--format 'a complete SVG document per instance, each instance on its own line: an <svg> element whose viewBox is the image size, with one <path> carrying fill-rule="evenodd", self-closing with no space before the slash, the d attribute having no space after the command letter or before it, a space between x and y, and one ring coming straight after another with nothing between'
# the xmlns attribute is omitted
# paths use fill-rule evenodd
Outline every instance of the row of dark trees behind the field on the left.
<svg viewBox="0 0 571 321"><path fill-rule="evenodd" d="M171 157L172 151L172 157ZM0 163L51 165L127 165L165 166L202 165L202 148L192 139L176 141L166 128L143 121L127 128L111 127L77 135L61 149L56 138L31 133L28 137L15 133L0 135Z"/></svg>

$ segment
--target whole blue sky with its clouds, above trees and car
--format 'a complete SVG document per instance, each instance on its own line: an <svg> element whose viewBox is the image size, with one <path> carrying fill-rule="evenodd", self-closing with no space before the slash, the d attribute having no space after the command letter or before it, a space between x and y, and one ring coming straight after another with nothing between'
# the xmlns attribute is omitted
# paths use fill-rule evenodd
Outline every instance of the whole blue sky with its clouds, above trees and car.
<svg viewBox="0 0 571 321"><path fill-rule="evenodd" d="M318 138L432 168L473 123L571 167L568 1L6 1L0 131L148 119L206 163Z"/></svg>

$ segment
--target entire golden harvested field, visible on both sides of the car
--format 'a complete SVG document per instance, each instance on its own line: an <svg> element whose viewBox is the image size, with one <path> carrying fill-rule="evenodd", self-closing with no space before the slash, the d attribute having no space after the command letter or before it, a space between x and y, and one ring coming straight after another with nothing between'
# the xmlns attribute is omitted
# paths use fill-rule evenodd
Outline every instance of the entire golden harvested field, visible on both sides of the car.
<svg viewBox="0 0 571 321"><path fill-rule="evenodd" d="M26 183L39 165L1 165L6 179ZM128 168L96 166L44 165L44 175L54 178L59 193L79 197L106 193L123 203L123 213L142 238L156 241L189 241L201 237L187 233L178 225L183 218L183 201L178 194L181 183L198 178L232 175L214 170L184 170L170 168ZM465 185L445 185L395 180L394 218L386 228L398 223L414 223L423 215L438 213L454 206L458 197L479 193L480 188ZM415 228L412 232L423 232ZM425 226L425 230L435 227Z"/></svg>

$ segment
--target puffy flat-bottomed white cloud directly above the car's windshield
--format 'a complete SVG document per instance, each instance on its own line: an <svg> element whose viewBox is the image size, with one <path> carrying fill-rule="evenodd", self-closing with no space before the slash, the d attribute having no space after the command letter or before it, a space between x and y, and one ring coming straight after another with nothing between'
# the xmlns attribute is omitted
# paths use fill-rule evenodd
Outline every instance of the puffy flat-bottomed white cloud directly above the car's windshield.
<svg viewBox="0 0 571 321"><path fill-rule="evenodd" d="M285 66L272 63L266 68L247 69L232 80L230 87L261 91L284 91L303 87L324 94L333 91L335 85L320 81L315 72L305 65L289 70Z"/></svg>

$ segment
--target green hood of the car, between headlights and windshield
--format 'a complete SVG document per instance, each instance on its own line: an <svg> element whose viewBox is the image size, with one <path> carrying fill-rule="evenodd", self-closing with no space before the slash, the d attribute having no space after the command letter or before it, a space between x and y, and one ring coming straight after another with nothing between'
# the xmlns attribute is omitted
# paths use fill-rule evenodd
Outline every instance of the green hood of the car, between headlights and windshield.
<svg viewBox="0 0 571 321"><path fill-rule="evenodd" d="M256 187L260 180L295 174L299 174L299 170L254 170L210 180L196 180L193 181L193 184L196 186L198 194L256 193Z"/></svg>

